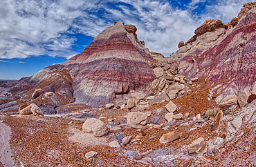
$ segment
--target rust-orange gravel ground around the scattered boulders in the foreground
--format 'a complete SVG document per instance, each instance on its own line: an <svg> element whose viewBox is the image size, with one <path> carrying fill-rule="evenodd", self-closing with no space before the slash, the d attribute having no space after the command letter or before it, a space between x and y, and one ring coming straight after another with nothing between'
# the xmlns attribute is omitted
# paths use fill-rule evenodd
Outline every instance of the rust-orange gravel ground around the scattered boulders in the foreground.
<svg viewBox="0 0 256 167"><path fill-rule="evenodd" d="M201 94L201 95L200 95ZM218 130L212 131L213 120L203 123L190 124L191 118L205 112L211 105L203 92L194 92L187 97L175 100L178 112L190 113L190 119L172 121L163 128L148 128L143 132L127 126L125 115L129 110L96 110L96 118L102 118L108 124L109 134L105 137L90 137L82 133L83 119L76 119L75 126L68 126L71 117L77 115L58 115L57 117L42 117L33 115L0 117L3 124L12 131L10 148L12 158L17 166L19 161L25 166L183 166L192 159L192 166L256 166L256 118L250 124L242 126L233 133L233 138L228 139L230 121L241 115L244 110L236 109L228 114ZM150 121L157 115L167 112L164 108L167 102L154 104L141 110L150 114ZM187 107L183 106L185 104ZM200 104L200 105L199 105ZM254 106L253 106L254 105ZM248 108L256 108L251 104ZM136 108L133 109L136 111ZM252 110L253 111L253 110ZM248 112L252 112L248 111ZM82 113L81 113L82 114ZM252 114L252 113L251 113ZM93 114L94 115L94 114ZM254 115L254 114L253 114ZM112 121L108 121L111 119ZM160 119L159 124L166 123ZM248 128L250 127L250 128ZM176 130L181 132L181 139L168 144L160 144L159 139L167 132ZM188 139L185 134L190 131ZM124 136L139 138L133 144L122 148L111 148L108 143L113 140L120 141ZM228 136L226 139L226 135ZM203 156L188 155L188 146L199 137L210 143L212 139L219 137L223 144L214 153ZM240 142L241 141L241 142ZM240 142L237 144L237 142ZM92 159L86 159L85 154L94 150L98 153ZM134 160L134 155L152 150L152 153L143 156L140 160ZM1 164L0 164L1 166Z"/></svg>

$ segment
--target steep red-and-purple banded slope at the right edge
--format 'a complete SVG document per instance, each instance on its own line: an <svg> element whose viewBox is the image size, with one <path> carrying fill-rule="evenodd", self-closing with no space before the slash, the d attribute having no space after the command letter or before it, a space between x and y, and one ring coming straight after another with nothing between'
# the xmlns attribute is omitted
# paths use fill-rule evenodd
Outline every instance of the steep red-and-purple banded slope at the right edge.
<svg viewBox="0 0 256 167"><path fill-rule="evenodd" d="M256 8L248 11L243 18L219 45L205 51L190 69L185 70L187 78L205 77L209 86L218 83L211 90L217 97L221 95L217 98L218 103L228 95L241 95L244 88L253 90L256 75Z"/></svg>

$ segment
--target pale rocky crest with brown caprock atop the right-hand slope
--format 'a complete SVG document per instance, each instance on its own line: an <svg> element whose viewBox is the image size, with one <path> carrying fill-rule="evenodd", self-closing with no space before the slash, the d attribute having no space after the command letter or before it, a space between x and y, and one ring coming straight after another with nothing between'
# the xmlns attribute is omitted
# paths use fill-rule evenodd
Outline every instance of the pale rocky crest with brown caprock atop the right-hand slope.
<svg viewBox="0 0 256 167"><path fill-rule="evenodd" d="M239 21L246 17L246 14L255 7L255 3L246 3L244 8L241 8L238 17L233 18L230 23L223 23L221 20L208 20L205 21L199 28L196 28L193 37L185 42L184 46L181 46L179 50L172 53L171 60L181 60L181 66L179 66L180 74L183 74L183 70L191 68L192 57L200 57L205 51L219 45L226 36L232 32L233 28L237 26ZM190 70L190 69L189 69Z"/></svg>

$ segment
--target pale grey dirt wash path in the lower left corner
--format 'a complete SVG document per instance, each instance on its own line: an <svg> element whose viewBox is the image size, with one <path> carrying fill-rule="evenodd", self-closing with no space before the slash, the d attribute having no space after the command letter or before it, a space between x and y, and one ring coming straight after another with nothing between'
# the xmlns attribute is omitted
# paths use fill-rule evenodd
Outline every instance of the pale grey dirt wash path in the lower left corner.
<svg viewBox="0 0 256 167"><path fill-rule="evenodd" d="M0 166L14 166L14 161L10 157L11 150L8 142L9 137L10 128L0 122Z"/></svg>

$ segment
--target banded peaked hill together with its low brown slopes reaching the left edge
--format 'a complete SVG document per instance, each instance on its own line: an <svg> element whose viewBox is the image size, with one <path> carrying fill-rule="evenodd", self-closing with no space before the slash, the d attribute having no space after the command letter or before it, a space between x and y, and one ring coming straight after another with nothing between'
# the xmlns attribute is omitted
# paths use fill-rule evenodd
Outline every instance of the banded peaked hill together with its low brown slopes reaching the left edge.
<svg viewBox="0 0 256 167"><path fill-rule="evenodd" d="M31 77L1 84L0 104L23 97L18 104L31 101L41 106L47 101L43 92L55 93L58 104L51 104L53 108L74 102L93 107L111 101L123 104L131 90L147 95L155 78L150 68L153 58L138 41L136 30L135 26L118 21L95 37L81 54Z"/></svg>

